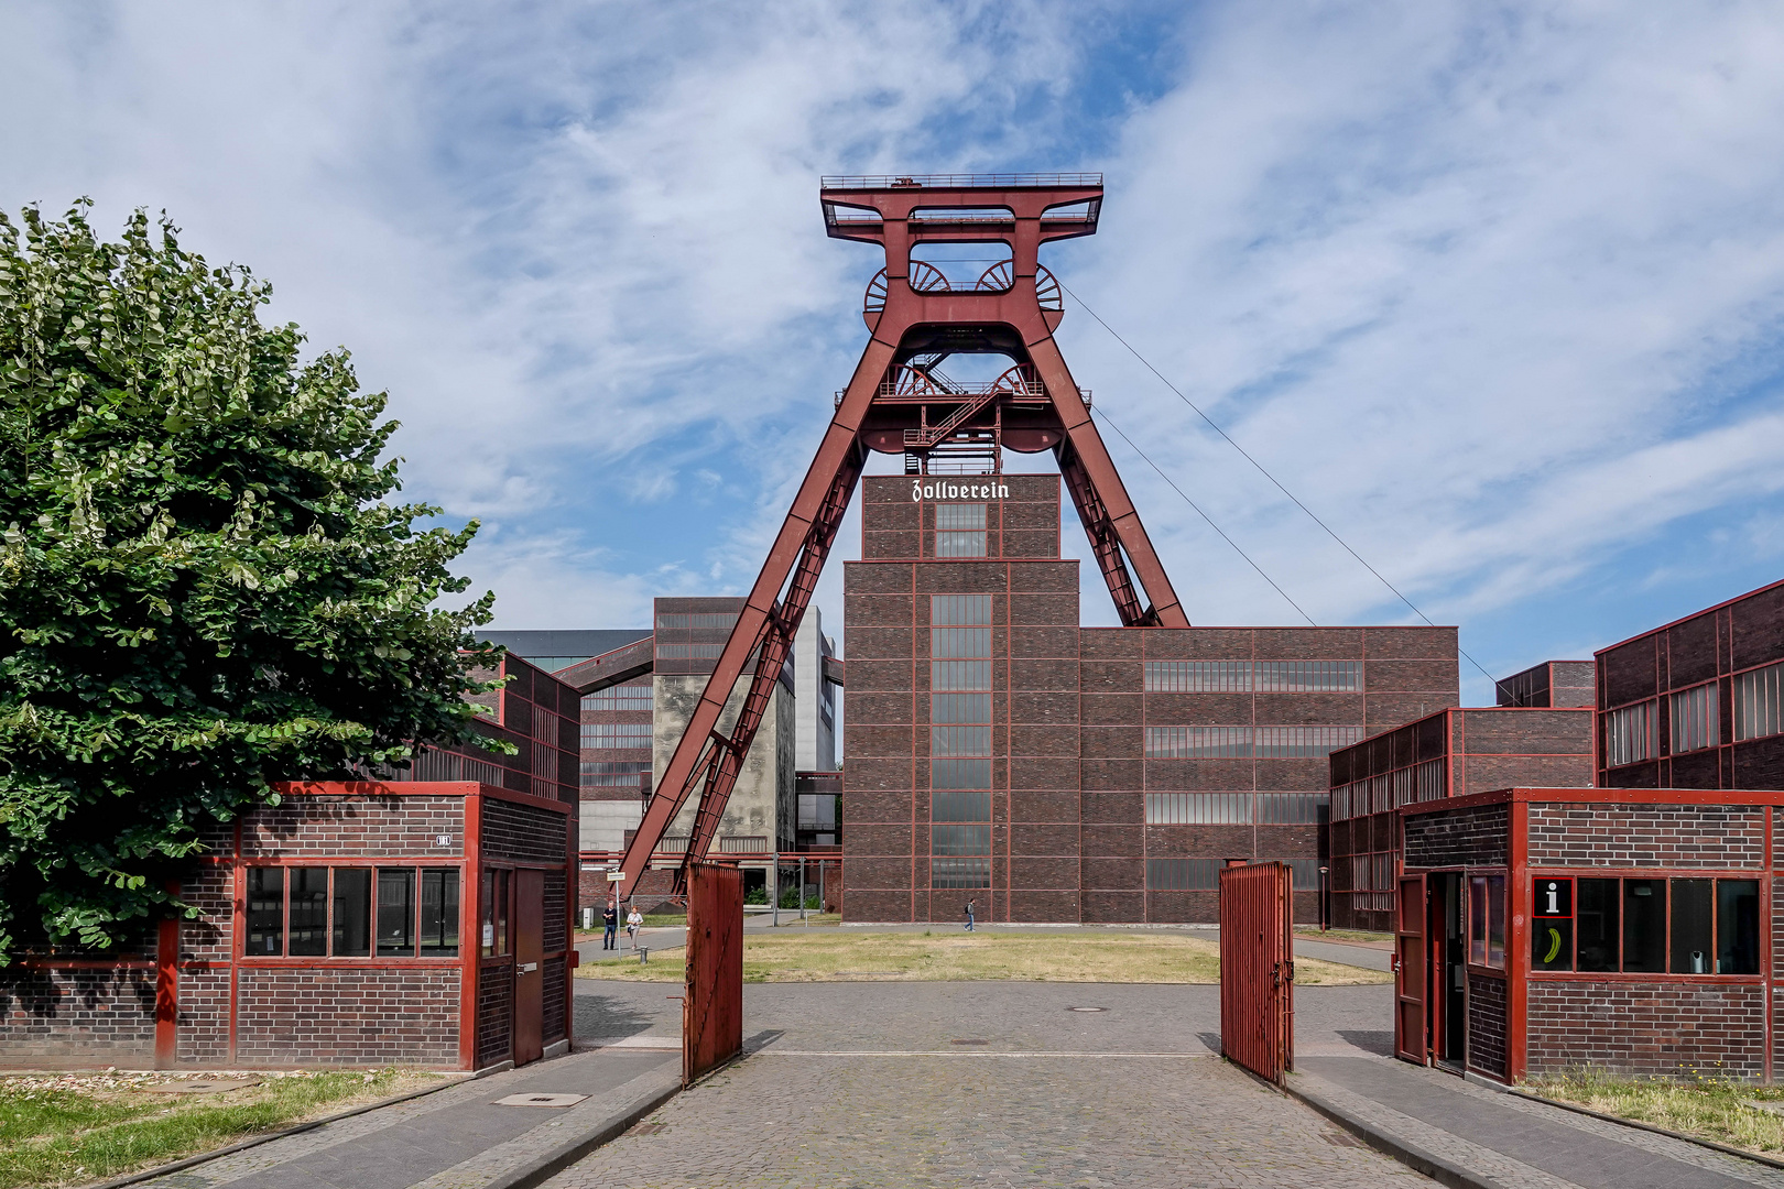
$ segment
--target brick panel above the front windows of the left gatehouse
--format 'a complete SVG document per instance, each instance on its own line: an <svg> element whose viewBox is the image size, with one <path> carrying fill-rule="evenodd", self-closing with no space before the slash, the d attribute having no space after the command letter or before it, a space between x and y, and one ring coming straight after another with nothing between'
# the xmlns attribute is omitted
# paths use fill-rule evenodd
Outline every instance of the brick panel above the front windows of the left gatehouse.
<svg viewBox="0 0 1784 1189"><path fill-rule="evenodd" d="M241 852L250 859L457 859L464 856L464 799L293 795L243 818Z"/></svg>

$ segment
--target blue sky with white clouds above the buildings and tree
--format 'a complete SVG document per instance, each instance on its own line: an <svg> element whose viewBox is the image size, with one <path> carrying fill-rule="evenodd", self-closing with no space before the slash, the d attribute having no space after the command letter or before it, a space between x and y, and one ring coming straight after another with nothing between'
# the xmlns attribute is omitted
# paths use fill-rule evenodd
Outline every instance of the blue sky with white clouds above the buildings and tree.
<svg viewBox="0 0 1784 1189"><path fill-rule="evenodd" d="M1101 169L1044 262L1497 676L1784 570L1775 4L25 0L0 100L7 209L166 209L351 348L500 627L747 588L865 339L856 171ZM1411 620L1069 310L1315 620ZM1110 439L1192 622L1302 622Z"/></svg>

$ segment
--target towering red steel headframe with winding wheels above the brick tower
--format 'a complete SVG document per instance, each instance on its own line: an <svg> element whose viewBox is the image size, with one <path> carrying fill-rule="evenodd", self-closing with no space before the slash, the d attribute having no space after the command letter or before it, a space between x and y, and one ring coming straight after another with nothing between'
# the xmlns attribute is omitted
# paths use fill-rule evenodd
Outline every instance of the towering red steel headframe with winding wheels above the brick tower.
<svg viewBox="0 0 1784 1189"><path fill-rule="evenodd" d="M972 433L987 419L995 428L979 431L992 433L997 447L1051 449L1122 624L1190 626L1090 419L1085 394L1053 340L1063 312L1051 275L1040 267L1040 244L1095 234L1101 175L824 178L821 203L831 237L885 248L885 271L869 285L863 308L872 337L626 847L621 870L630 888L637 888L696 783L703 788L681 856L683 873L687 863L703 859L712 847L871 449L904 453L912 442L928 449L937 437ZM976 283L958 287L933 266L917 262L913 269L912 248L921 242L1003 242L1012 258ZM1013 373L1020 378L976 394L931 385L929 369L954 353L1006 355L1017 362ZM912 396L912 389L921 394ZM928 422L931 406L951 406L951 415L935 428ZM1151 606L1142 603L1142 592ZM749 692L737 726L724 734L717 729L719 717L751 658Z"/></svg>

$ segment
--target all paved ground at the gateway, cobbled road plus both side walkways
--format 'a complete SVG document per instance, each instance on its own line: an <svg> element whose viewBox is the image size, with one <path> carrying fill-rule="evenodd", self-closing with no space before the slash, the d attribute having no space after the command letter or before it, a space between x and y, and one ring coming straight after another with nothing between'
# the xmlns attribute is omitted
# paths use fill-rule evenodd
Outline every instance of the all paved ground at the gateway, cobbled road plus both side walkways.
<svg viewBox="0 0 1784 1189"><path fill-rule="evenodd" d="M1297 991L1290 1084L1318 1111L1217 1057L1218 988L1158 984L749 984L751 1055L669 1098L673 991L578 979L583 1052L152 1184L469 1189L553 1153L562 1189L1431 1184L1331 1112L1454 1185L1784 1189L1784 1169L1393 1061L1390 986ZM496 1105L514 1093L589 1098Z"/></svg>

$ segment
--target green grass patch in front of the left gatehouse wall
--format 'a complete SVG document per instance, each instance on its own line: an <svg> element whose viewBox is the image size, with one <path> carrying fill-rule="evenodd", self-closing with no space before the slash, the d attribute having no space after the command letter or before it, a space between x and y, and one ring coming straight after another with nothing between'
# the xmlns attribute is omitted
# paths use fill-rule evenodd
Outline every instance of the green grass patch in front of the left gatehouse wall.
<svg viewBox="0 0 1784 1189"><path fill-rule="evenodd" d="M237 1077L259 1084L209 1095L155 1091ZM109 1180L437 1080L414 1070L4 1077L0 1187Z"/></svg>

